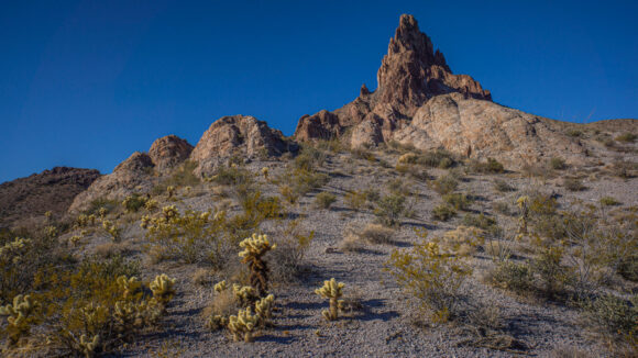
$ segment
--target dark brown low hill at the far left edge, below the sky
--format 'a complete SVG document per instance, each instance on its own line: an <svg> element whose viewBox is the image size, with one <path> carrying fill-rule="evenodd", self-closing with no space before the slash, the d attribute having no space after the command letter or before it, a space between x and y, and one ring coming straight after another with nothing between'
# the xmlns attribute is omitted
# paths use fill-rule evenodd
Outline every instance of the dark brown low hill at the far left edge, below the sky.
<svg viewBox="0 0 638 358"><path fill-rule="evenodd" d="M65 213L75 197L99 177L95 169L55 167L0 184L0 227L47 211Z"/></svg>

